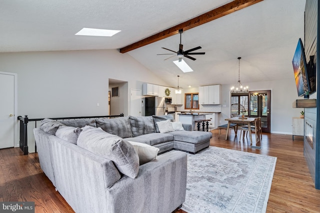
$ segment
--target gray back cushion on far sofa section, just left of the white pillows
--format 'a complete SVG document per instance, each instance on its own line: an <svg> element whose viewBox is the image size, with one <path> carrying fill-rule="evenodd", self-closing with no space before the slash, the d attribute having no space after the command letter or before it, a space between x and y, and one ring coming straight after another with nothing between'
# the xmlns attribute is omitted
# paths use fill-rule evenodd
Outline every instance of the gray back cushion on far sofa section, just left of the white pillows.
<svg viewBox="0 0 320 213"><path fill-rule="evenodd" d="M152 116L129 116L132 137L155 132Z"/></svg>

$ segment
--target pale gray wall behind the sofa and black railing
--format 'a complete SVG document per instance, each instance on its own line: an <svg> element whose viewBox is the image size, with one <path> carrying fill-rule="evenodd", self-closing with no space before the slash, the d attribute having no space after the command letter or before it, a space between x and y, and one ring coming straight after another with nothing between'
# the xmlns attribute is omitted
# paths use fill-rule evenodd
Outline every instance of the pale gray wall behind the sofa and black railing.
<svg viewBox="0 0 320 213"><path fill-rule="evenodd" d="M17 112L29 118L107 115L109 78L127 81L128 91L143 82L166 84L117 50L0 53L0 71L17 73ZM123 103L127 115L129 97ZM29 152L33 128L29 122Z"/></svg>

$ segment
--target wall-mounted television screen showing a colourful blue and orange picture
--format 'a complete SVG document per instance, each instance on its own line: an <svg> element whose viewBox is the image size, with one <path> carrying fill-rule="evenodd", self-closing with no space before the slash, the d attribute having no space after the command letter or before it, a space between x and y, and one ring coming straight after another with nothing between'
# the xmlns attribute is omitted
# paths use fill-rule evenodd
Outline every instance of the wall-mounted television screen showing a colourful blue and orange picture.
<svg viewBox="0 0 320 213"><path fill-rule="evenodd" d="M299 38L298 44L296 45L296 49L292 59L292 65L298 96L303 96L306 92L310 91L310 86L306 71L307 64L301 38Z"/></svg>

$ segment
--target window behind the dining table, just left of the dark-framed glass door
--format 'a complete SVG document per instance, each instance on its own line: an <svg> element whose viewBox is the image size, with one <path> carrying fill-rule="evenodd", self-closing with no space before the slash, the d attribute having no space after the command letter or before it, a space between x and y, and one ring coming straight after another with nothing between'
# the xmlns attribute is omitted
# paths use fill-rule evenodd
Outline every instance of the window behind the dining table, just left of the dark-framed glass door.
<svg viewBox="0 0 320 213"><path fill-rule="evenodd" d="M248 115L248 93L231 94L231 114L237 112L238 115Z"/></svg>

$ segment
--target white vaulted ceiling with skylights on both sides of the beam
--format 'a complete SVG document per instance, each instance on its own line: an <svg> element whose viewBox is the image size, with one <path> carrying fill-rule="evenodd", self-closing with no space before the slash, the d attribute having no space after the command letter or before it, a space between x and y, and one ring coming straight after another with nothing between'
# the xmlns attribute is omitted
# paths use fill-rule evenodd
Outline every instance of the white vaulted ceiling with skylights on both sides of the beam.
<svg viewBox="0 0 320 213"><path fill-rule="evenodd" d="M236 0L241 2L250 0ZM165 47L178 50L171 36L127 51L169 85L234 84L291 78L291 60L303 40L305 0L253 0L254 4L193 28L184 28L183 49L205 55L183 58L194 72L182 73ZM259 1L259 2L258 2ZM214 10L232 0L0 0L0 52L121 49ZM227 12L228 13L228 12ZM194 20L194 19L193 19ZM199 20L201 21L201 20ZM75 36L83 27L117 29L112 37ZM159 35L157 35L159 36ZM129 46L130 47L130 46ZM122 51L124 52L124 51ZM196 51L195 51L196 52ZM120 54L120 53L119 53ZM121 53L122 54L122 53ZM121 79L120 79L121 80Z"/></svg>

